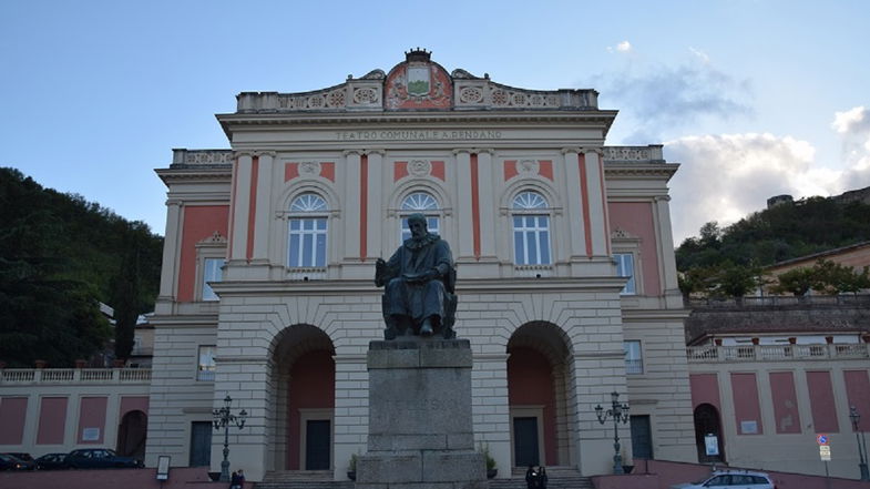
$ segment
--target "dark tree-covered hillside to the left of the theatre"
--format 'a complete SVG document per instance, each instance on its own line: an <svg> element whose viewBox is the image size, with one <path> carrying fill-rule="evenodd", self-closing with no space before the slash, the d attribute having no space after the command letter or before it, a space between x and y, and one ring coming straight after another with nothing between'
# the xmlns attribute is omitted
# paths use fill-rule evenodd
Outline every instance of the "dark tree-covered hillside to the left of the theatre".
<svg viewBox="0 0 870 489"><path fill-rule="evenodd" d="M0 169L0 361L70 366L112 336L129 355L136 316L152 310L163 238L99 204Z"/></svg>

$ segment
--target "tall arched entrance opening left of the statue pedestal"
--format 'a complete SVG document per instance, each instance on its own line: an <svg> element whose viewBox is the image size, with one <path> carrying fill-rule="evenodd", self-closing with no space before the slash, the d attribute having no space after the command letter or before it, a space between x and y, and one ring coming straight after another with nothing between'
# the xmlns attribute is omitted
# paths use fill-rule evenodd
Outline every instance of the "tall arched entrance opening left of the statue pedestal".
<svg viewBox="0 0 870 489"><path fill-rule="evenodd" d="M274 342L273 465L276 470L334 467L335 346L320 328L299 324Z"/></svg>

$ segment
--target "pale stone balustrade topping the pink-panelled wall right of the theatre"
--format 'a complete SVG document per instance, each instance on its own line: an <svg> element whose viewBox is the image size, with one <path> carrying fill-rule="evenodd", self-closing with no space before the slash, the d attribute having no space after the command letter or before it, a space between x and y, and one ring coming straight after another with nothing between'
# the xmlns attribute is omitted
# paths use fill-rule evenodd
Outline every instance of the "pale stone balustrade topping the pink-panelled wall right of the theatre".
<svg viewBox="0 0 870 489"><path fill-rule="evenodd" d="M689 346L689 364L870 358L870 344Z"/></svg>

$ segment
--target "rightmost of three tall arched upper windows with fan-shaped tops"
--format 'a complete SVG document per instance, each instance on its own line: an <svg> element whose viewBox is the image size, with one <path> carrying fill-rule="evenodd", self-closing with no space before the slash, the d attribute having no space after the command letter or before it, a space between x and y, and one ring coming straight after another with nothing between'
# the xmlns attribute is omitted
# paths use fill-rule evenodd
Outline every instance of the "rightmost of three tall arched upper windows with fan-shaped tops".
<svg viewBox="0 0 870 489"><path fill-rule="evenodd" d="M536 192L513 197L513 256L518 265L550 265L550 206Z"/></svg>

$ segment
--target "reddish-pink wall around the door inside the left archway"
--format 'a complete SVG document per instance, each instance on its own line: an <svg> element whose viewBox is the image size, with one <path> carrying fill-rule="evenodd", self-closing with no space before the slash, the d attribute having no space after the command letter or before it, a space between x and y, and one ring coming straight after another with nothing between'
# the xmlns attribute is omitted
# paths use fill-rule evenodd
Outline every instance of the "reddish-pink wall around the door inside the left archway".
<svg viewBox="0 0 870 489"><path fill-rule="evenodd" d="M299 470L299 409L332 409L336 405L336 366L327 350L310 352L296 360L290 370L287 403L289 427L287 468ZM335 441L335 440L334 440Z"/></svg>

